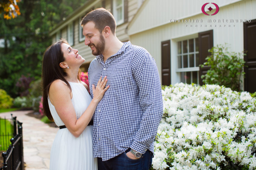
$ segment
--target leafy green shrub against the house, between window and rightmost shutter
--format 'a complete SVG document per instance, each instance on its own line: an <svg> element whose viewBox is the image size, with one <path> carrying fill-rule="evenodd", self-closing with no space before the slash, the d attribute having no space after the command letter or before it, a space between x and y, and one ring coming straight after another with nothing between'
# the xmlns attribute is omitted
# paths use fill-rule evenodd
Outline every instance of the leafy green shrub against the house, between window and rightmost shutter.
<svg viewBox="0 0 256 170"><path fill-rule="evenodd" d="M241 76L244 76L244 53L229 52L225 45L217 45L208 50L203 66L211 66L201 78L205 84L218 84L240 91Z"/></svg>

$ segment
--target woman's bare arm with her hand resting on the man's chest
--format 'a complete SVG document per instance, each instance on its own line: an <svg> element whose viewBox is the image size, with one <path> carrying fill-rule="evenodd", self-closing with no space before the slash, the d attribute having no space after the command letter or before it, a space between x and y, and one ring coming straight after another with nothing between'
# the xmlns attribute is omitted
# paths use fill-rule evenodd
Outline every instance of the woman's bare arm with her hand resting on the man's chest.
<svg viewBox="0 0 256 170"><path fill-rule="evenodd" d="M94 97L79 119L76 119L76 112L71 102L72 93L66 83L62 80L55 80L51 84L49 90L51 103L54 105L63 123L75 137L79 137L91 121L98 103L102 99L105 91L109 88L109 86L105 88L106 83L107 79L104 77L102 81L100 78L96 88L93 85L92 91Z"/></svg>

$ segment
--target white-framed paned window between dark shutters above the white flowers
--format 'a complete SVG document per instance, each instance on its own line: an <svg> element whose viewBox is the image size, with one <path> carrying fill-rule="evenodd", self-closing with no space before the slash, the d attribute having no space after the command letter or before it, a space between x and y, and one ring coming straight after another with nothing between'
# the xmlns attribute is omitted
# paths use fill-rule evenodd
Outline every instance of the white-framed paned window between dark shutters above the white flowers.
<svg viewBox="0 0 256 170"><path fill-rule="evenodd" d="M180 82L199 84L199 49L198 38L177 42L178 69Z"/></svg>

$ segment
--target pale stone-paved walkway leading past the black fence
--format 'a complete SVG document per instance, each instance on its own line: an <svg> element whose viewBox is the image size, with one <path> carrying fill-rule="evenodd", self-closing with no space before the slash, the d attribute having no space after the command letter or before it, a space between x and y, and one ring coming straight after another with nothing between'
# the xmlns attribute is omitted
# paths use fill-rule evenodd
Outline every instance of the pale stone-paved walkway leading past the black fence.
<svg viewBox="0 0 256 170"><path fill-rule="evenodd" d="M25 170L48 170L52 142L59 128L49 127L42 121L27 116L31 111L12 111L1 113L0 117L11 119L17 116L23 127L23 153Z"/></svg>

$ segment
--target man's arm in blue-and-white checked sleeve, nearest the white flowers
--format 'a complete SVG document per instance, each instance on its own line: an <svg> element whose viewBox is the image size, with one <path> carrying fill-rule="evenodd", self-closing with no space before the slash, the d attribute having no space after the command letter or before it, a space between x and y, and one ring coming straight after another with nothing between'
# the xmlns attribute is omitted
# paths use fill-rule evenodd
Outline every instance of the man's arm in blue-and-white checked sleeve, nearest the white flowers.
<svg viewBox="0 0 256 170"><path fill-rule="evenodd" d="M155 140L157 128L163 113L158 68L155 60L149 53L145 52L136 61L133 77L139 88L139 101L143 114L139 130L130 148L144 154Z"/></svg>

